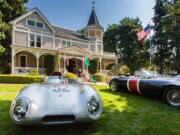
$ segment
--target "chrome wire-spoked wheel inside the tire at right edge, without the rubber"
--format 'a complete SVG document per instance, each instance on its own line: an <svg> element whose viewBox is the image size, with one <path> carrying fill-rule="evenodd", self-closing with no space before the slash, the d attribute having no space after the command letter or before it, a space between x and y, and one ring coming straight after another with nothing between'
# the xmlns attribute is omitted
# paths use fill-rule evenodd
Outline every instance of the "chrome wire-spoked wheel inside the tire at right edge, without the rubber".
<svg viewBox="0 0 180 135"><path fill-rule="evenodd" d="M169 89L166 94L166 101L174 107L180 107L180 90Z"/></svg>

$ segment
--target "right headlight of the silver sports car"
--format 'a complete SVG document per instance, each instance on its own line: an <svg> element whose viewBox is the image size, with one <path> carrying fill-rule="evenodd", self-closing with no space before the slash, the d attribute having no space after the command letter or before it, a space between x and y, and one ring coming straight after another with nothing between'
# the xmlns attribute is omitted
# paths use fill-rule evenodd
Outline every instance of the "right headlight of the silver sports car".
<svg viewBox="0 0 180 135"><path fill-rule="evenodd" d="M89 117L92 119L98 119L101 115L101 104L95 97L90 97L87 100L87 110Z"/></svg>

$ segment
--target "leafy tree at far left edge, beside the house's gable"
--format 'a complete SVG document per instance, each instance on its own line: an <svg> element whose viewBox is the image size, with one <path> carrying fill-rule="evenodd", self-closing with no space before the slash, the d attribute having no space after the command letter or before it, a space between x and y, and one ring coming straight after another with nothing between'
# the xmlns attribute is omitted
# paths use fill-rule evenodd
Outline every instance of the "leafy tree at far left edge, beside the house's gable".
<svg viewBox="0 0 180 135"><path fill-rule="evenodd" d="M28 0L0 0L0 45L1 52L0 55L1 67L6 69L4 72L10 72L8 65L10 63L10 44L11 44L11 26L9 22L18 16L26 12L26 7L24 3L27 3ZM2 49L2 47L4 49Z"/></svg>

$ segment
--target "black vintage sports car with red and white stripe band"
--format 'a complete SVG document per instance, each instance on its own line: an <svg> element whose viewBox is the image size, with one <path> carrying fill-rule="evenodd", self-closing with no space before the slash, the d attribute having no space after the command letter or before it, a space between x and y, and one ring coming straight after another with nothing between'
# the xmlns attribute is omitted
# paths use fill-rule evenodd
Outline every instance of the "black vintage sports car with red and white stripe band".
<svg viewBox="0 0 180 135"><path fill-rule="evenodd" d="M139 70L135 76L113 77L109 80L110 90L129 91L145 96L163 97L173 107L180 107L180 81L176 78L163 78L154 71Z"/></svg>

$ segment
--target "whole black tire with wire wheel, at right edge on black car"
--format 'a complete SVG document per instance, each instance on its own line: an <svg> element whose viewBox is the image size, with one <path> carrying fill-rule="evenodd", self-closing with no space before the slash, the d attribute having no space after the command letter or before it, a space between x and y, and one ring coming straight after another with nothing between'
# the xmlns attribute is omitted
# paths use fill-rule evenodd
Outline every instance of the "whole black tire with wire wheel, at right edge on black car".
<svg viewBox="0 0 180 135"><path fill-rule="evenodd" d="M180 89L176 87L168 87L164 91L164 100L173 107L180 107Z"/></svg>

